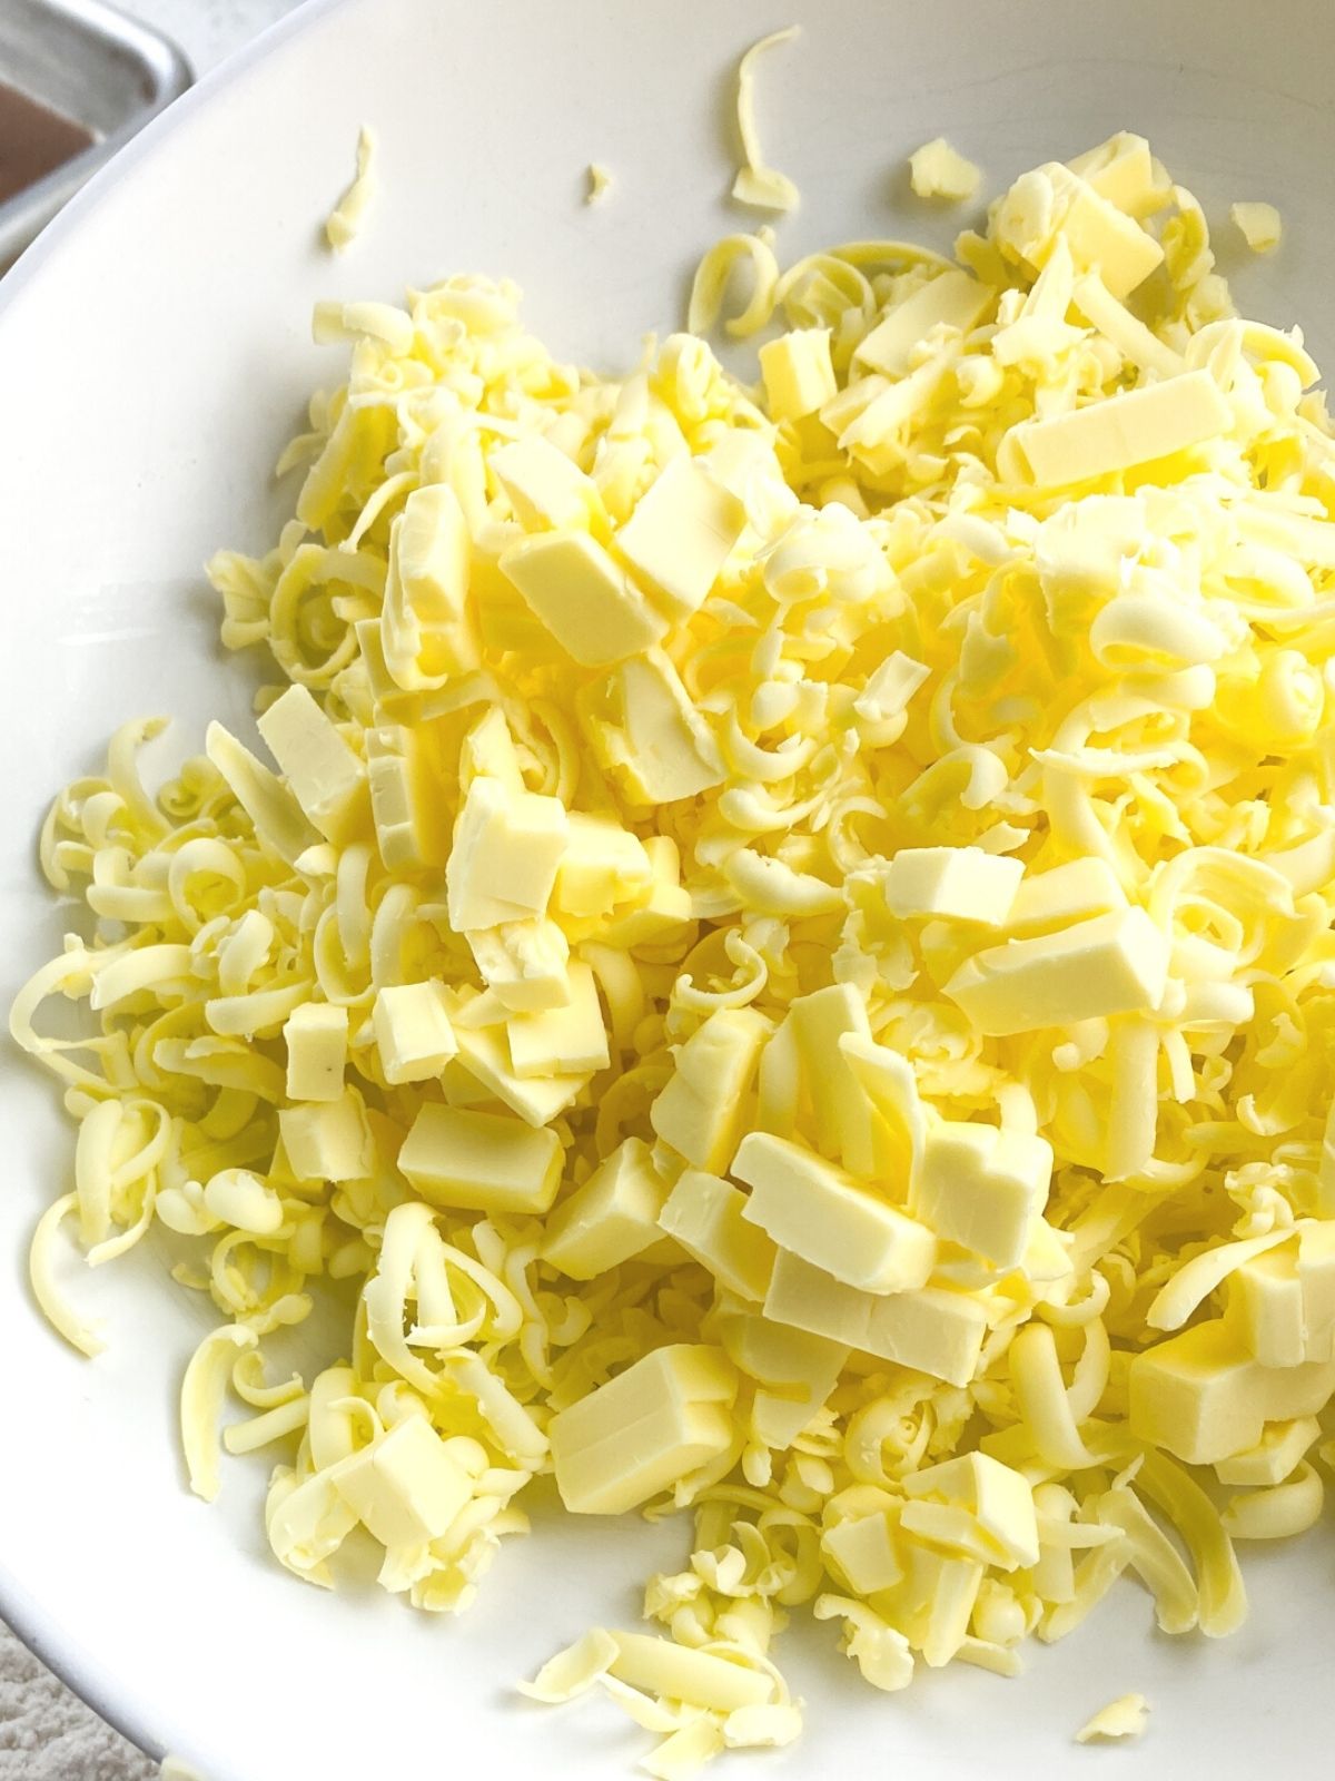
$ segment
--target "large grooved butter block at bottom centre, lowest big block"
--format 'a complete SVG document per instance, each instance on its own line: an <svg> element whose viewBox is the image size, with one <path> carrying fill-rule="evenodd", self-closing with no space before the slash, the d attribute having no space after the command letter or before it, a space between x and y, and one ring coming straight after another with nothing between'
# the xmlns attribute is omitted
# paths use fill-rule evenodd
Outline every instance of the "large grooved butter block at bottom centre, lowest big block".
<svg viewBox="0 0 1335 1781"><path fill-rule="evenodd" d="M548 1423L561 1501L621 1516L728 1452L737 1371L721 1348L673 1343Z"/></svg>

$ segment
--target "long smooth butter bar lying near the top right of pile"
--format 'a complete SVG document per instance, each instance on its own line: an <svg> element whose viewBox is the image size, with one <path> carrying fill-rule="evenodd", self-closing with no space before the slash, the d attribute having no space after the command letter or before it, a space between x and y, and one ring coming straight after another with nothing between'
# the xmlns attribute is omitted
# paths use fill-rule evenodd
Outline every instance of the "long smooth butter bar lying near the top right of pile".
<svg viewBox="0 0 1335 1781"><path fill-rule="evenodd" d="M1123 390L1048 420L1022 420L1009 438L1043 488L1091 483L1219 438L1234 411L1209 370Z"/></svg>

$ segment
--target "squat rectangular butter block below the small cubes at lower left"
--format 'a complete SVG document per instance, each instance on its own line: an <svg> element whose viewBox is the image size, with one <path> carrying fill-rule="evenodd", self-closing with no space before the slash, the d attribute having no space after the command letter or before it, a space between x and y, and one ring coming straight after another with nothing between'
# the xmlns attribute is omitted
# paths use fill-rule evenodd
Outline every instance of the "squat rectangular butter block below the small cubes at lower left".
<svg viewBox="0 0 1335 1781"><path fill-rule="evenodd" d="M399 1151L399 1168L424 1200L479 1213L545 1213L562 1159L554 1131L438 1102L418 1108Z"/></svg>

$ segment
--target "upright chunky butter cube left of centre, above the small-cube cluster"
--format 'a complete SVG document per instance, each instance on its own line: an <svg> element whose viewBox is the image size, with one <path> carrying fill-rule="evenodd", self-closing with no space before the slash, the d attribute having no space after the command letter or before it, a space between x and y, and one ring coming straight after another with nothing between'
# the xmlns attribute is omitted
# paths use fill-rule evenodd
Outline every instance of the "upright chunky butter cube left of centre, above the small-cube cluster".
<svg viewBox="0 0 1335 1781"><path fill-rule="evenodd" d="M545 914L566 835L559 798L513 793L500 780L475 778L459 809L445 867L454 931Z"/></svg>

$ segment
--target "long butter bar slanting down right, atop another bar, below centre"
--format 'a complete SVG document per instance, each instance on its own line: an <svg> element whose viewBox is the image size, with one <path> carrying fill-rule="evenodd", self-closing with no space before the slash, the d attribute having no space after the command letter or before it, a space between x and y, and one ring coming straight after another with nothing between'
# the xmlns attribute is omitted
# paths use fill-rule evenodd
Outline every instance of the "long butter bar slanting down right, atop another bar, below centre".
<svg viewBox="0 0 1335 1781"><path fill-rule="evenodd" d="M787 1138L748 1133L732 1174L751 1188L749 1224L849 1286L899 1293L922 1286L936 1263L926 1225Z"/></svg>

